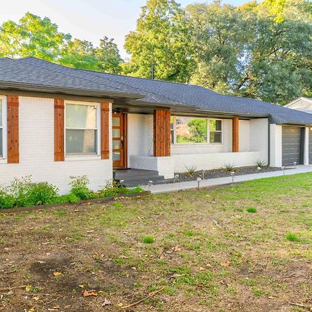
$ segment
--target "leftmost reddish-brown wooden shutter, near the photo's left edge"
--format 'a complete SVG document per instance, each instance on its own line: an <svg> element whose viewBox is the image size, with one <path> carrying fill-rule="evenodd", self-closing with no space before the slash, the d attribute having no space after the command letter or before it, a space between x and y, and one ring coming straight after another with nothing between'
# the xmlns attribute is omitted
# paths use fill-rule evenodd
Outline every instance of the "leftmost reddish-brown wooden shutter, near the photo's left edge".
<svg viewBox="0 0 312 312"><path fill-rule="evenodd" d="M8 96L8 164L19 163L19 97Z"/></svg>

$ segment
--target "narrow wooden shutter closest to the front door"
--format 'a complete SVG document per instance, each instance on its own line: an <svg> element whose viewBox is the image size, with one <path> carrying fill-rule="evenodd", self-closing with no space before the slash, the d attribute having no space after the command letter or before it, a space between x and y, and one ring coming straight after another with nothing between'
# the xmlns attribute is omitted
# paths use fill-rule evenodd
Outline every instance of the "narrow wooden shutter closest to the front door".
<svg viewBox="0 0 312 312"><path fill-rule="evenodd" d="M101 103L101 159L110 159L110 104Z"/></svg>

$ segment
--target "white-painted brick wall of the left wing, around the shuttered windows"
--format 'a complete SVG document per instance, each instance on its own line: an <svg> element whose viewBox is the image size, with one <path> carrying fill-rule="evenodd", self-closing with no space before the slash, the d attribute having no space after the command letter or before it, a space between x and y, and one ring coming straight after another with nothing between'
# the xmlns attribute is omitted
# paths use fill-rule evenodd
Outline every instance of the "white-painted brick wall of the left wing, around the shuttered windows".
<svg viewBox="0 0 312 312"><path fill-rule="evenodd" d="M111 108L111 107L110 107ZM110 119L110 125L112 120ZM110 127L111 128L111 127ZM110 153L112 138L110 137ZM19 97L19 164L0 164L0 184L32 175L33 182L55 184L69 191L69 176L87 175L89 187L101 188L112 179L112 159L84 157L54 162L54 102L49 98Z"/></svg>

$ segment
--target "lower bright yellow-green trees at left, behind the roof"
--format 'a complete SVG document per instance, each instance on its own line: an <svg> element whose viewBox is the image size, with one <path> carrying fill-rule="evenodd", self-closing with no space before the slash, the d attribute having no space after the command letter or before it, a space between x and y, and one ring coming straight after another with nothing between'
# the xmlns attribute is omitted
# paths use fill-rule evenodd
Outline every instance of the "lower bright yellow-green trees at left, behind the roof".
<svg viewBox="0 0 312 312"><path fill-rule="evenodd" d="M108 73L119 73L122 62L114 40L103 37L99 46L94 47L92 42L60 33L48 17L29 12L17 23L6 21L0 26L0 57L4 56L35 56L69 67Z"/></svg>

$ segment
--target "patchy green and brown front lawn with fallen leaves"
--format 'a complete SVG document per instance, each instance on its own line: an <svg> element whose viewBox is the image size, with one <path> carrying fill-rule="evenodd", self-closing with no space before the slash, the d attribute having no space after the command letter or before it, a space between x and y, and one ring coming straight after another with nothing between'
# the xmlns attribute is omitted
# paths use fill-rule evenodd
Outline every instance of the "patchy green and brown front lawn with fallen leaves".
<svg viewBox="0 0 312 312"><path fill-rule="evenodd" d="M28 285L0 291L3 311L312 305L311 173L0 220L0 288ZM85 290L97 296L84 297ZM111 304L103 307L105 299Z"/></svg>

